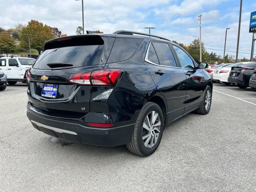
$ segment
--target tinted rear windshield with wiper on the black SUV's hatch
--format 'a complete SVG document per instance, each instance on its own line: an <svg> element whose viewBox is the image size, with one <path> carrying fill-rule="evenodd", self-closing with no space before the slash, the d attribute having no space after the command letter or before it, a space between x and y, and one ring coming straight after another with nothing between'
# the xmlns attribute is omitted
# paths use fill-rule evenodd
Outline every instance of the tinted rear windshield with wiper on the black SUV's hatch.
<svg viewBox="0 0 256 192"><path fill-rule="evenodd" d="M72 64L72 67L98 65L102 49L103 45L67 46L47 49L40 54L33 68L51 69L47 64Z"/></svg>

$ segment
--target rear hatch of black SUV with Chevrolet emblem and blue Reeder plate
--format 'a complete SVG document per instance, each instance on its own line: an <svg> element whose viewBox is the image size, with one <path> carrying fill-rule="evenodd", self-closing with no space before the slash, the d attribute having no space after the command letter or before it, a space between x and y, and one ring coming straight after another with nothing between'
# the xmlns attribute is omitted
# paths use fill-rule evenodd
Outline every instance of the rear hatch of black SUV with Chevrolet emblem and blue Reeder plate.
<svg viewBox="0 0 256 192"><path fill-rule="evenodd" d="M109 39L110 38L110 39ZM82 118L90 111L91 86L70 84L72 74L104 68L114 38L71 36L46 42L30 69L30 104L46 115Z"/></svg>

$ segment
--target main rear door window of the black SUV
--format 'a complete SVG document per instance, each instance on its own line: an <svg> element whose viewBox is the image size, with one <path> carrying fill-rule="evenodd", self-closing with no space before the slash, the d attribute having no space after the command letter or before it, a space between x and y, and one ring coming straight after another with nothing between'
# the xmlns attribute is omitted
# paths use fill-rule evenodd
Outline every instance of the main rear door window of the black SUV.
<svg viewBox="0 0 256 192"><path fill-rule="evenodd" d="M152 42L160 65L177 67L172 51L167 43Z"/></svg>

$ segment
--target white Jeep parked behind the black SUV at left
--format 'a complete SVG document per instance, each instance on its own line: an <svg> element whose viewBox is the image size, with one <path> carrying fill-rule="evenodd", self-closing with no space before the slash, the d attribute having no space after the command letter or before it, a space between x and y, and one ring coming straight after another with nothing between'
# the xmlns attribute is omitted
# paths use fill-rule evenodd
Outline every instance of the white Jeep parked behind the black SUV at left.
<svg viewBox="0 0 256 192"><path fill-rule="evenodd" d="M7 76L7 82L14 85L17 82L26 83L26 72L34 64L35 59L26 57L1 57L0 70Z"/></svg>

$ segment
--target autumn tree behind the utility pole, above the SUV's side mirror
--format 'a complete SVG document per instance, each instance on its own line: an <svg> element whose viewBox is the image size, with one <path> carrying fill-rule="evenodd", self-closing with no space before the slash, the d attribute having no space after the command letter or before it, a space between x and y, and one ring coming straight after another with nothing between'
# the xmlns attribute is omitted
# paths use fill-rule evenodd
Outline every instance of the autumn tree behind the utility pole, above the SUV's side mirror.
<svg viewBox="0 0 256 192"><path fill-rule="evenodd" d="M202 44L202 61L207 62L209 53L206 51L204 47L204 42ZM194 39L189 46L186 47L187 52L194 58L196 62L200 62L200 40Z"/></svg>

